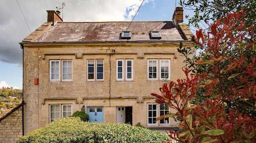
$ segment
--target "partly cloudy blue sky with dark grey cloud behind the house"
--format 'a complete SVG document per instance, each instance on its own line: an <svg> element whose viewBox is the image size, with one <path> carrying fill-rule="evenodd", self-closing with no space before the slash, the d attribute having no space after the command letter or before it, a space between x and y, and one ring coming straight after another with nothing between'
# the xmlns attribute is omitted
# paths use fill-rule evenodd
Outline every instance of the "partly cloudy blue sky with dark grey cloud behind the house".
<svg viewBox="0 0 256 143"><path fill-rule="evenodd" d="M47 10L57 10L57 6L63 6L61 16L63 14L65 22L131 21L133 18L133 21L172 21L175 5L180 6L178 2L179 0L177 3L175 0L1 0L0 88L22 89L22 49L19 43L47 22ZM191 12L193 11L184 9L184 15ZM184 22L188 23L185 17Z"/></svg>

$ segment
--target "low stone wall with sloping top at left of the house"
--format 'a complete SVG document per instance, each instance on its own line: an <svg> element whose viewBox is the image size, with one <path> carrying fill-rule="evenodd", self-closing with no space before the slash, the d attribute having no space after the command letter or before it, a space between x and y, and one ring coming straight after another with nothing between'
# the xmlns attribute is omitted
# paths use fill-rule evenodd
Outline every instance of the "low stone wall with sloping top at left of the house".
<svg viewBox="0 0 256 143"><path fill-rule="evenodd" d="M16 143L22 137L22 104L0 118L0 143Z"/></svg>

